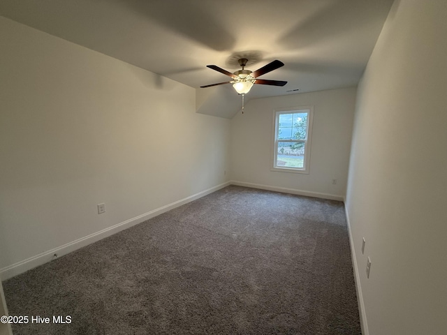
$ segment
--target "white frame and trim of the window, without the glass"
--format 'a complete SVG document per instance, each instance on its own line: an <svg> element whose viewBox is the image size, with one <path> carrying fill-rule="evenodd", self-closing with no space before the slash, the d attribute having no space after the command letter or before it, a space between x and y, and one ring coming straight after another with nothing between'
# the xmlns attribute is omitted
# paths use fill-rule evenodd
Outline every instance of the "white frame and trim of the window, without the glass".
<svg viewBox="0 0 447 335"><path fill-rule="evenodd" d="M307 112L307 137L305 140L278 140L279 115ZM272 145L272 166L271 171L293 172L309 174L310 151L312 140L312 124L314 121L314 106L284 107L273 110L273 145ZM277 165L278 142L303 142L305 143L305 156L303 168L282 167Z"/></svg>

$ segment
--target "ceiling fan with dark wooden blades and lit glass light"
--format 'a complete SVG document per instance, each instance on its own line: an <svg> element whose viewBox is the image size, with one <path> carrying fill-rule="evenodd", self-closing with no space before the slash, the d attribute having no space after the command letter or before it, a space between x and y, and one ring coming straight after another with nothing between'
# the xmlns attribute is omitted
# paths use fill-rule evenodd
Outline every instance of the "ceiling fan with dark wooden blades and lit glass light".
<svg viewBox="0 0 447 335"><path fill-rule="evenodd" d="M284 66L284 63L282 61L274 60L271 63L267 64L266 66L263 66L262 68L259 68L256 71L251 70L245 70L244 67L247 65L247 58L241 58L238 60L238 63L240 66L242 66L242 70L237 70L235 73L230 73L227 70L223 70L223 68L219 68L219 66L215 65L207 65L207 68L212 68L213 70L216 70L220 73L223 73L224 75L228 75L232 78L229 82L218 82L217 84L210 84L205 86L200 86L201 88L205 87L212 87L217 85L223 85L223 84L233 84L234 89L237 91L238 94L247 94L253 84L261 84L261 85L272 85L272 86L284 86L287 84L287 82L281 81L281 80L265 80L265 79L256 79L257 77L264 75L265 73L269 73L272 70L276 70L277 68L280 68L281 66Z"/></svg>

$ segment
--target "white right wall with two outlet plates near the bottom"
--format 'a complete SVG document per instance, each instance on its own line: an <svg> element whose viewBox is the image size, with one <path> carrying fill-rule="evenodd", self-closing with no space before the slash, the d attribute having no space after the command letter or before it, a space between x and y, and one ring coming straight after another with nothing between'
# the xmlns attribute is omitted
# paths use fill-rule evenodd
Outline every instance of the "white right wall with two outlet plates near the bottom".
<svg viewBox="0 0 447 335"><path fill-rule="evenodd" d="M365 334L447 334L446 17L445 0L396 1L358 87L346 208Z"/></svg>

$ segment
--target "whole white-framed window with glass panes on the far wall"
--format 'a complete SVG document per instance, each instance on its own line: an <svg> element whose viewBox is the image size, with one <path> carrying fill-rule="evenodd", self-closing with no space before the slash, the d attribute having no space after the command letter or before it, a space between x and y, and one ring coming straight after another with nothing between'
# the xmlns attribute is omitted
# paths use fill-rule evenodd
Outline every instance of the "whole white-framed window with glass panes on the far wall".
<svg viewBox="0 0 447 335"><path fill-rule="evenodd" d="M309 173L313 107L274 111L273 171Z"/></svg>

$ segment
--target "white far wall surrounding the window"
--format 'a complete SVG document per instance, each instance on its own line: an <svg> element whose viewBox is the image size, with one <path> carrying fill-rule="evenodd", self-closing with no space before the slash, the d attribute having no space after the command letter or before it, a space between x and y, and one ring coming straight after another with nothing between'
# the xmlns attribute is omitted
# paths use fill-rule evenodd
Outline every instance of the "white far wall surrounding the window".
<svg viewBox="0 0 447 335"><path fill-rule="evenodd" d="M345 195L356 89L251 100L231 123L231 179L342 200ZM314 106L310 173L271 171L273 110ZM332 185L332 179L337 184Z"/></svg>

